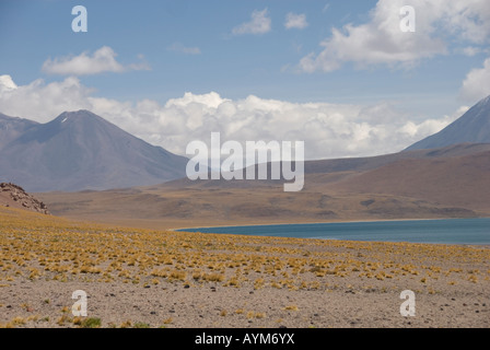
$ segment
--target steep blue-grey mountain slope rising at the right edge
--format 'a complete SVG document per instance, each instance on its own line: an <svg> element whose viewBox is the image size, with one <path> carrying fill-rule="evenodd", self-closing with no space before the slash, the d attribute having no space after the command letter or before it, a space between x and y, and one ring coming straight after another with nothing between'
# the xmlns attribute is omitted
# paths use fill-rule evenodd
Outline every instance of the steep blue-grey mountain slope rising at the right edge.
<svg viewBox="0 0 490 350"><path fill-rule="evenodd" d="M435 149L456 143L490 143L490 96L481 100L460 118L406 151Z"/></svg>

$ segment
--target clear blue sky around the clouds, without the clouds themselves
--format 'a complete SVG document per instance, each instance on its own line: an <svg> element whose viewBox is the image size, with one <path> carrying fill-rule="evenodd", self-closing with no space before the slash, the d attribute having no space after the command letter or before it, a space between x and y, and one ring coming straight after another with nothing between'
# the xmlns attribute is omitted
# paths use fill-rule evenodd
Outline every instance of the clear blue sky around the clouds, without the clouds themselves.
<svg viewBox="0 0 490 350"><path fill-rule="evenodd" d="M163 101L186 91L217 91L231 98L258 94L324 100L345 74L311 77L281 72L281 68L298 63L302 55L317 49L330 26L342 24L335 10L341 11L345 21L352 21L365 16L368 2L361 1L362 7L352 12L342 1L323 12L324 1L2 1L1 49L11 55L2 57L1 67L19 83L38 77L49 81L56 77L40 71L48 57L79 55L107 45L121 62L144 55L151 71L84 79L106 96ZM71 31L71 9L77 4L88 9L88 33ZM231 34L254 10L266 8L272 20L269 33ZM306 13L307 30L284 30L285 14L294 11ZM201 54L170 50L175 43L198 47Z"/></svg>

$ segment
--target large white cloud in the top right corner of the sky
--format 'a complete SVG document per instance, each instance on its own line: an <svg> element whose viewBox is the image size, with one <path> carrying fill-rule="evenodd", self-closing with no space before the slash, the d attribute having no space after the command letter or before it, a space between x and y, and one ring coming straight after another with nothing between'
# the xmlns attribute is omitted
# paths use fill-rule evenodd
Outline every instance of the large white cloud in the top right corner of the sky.
<svg viewBox="0 0 490 350"><path fill-rule="evenodd" d="M416 10L415 33L400 31L404 5ZM334 27L331 36L320 43L322 51L303 57L299 66L306 72L330 72L345 62L360 68L411 67L421 59L445 55L448 40L486 45L489 34L487 0L380 0L368 23Z"/></svg>

